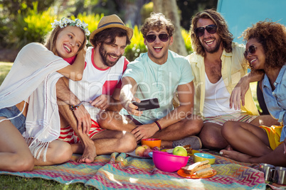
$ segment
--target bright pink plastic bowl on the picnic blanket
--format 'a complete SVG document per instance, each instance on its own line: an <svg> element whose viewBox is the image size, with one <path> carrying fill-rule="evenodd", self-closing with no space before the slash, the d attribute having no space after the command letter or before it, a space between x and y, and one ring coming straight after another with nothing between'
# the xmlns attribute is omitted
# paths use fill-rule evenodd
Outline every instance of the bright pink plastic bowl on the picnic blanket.
<svg viewBox="0 0 286 190"><path fill-rule="evenodd" d="M176 172L185 167L189 157L173 155L169 152L153 151L153 162L155 167L164 172Z"/></svg>

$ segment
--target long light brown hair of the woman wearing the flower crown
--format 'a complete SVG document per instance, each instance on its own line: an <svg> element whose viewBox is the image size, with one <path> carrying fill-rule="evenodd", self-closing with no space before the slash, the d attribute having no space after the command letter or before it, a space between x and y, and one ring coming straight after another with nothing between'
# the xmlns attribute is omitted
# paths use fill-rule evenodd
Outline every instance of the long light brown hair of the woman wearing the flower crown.
<svg viewBox="0 0 286 190"><path fill-rule="evenodd" d="M78 27L78 28L80 28L80 27ZM46 44L45 44L45 46L48 48L48 50L50 50L51 52L53 52L53 54L56 53L56 50L55 50L55 42L56 42L56 40L57 40L57 38L58 38L58 34L60 33L61 30L63 30L63 28L60 28L60 26L56 26L56 27L51 31L50 35L48 35L48 36L46 37ZM82 30L82 31L83 31L83 34L85 35L85 30L83 30L83 28L80 28L80 30ZM80 48L78 49L78 52L79 52L80 50L82 50L83 47L85 47L86 41L87 41L87 39L86 39L86 35L85 35L85 40L83 40L82 45L80 45Z"/></svg>

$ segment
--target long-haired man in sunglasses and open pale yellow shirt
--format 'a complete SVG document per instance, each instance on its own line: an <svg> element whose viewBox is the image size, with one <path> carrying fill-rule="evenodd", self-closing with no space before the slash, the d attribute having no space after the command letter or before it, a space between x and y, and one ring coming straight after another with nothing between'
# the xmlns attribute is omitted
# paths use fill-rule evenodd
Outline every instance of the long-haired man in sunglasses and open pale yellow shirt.
<svg viewBox="0 0 286 190"><path fill-rule="evenodd" d="M247 74L245 47L233 43L233 35L220 13L213 9L196 13L191 21L191 43L194 53L187 59L196 89L194 113L204 118L199 134L203 147L221 150L228 146L221 135L223 123L228 120L257 126L274 122L270 116L258 116L249 89L245 88L245 105L240 106L240 99L234 102L236 98L231 94L235 87L240 89L240 78L245 76L254 82L258 74Z"/></svg>

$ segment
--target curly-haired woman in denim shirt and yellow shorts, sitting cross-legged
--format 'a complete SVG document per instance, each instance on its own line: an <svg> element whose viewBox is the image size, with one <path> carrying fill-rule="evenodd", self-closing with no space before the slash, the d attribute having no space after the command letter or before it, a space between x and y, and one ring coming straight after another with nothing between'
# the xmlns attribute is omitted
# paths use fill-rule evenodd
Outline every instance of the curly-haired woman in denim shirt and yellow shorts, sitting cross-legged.
<svg viewBox="0 0 286 190"><path fill-rule="evenodd" d="M243 32L247 41L245 59L251 69L264 72L260 88L271 116L281 126L260 128L228 121L222 135L231 145L224 157L239 162L286 166L286 28L280 23L260 21ZM254 151L255 150L255 151Z"/></svg>

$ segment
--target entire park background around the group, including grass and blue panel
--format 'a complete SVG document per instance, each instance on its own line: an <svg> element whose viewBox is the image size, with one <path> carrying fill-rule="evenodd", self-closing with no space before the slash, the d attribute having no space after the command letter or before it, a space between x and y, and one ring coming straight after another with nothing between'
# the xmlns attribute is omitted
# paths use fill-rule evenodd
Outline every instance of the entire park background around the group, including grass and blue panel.
<svg viewBox="0 0 286 190"><path fill-rule="evenodd" d="M270 18L272 21L285 24L285 20L280 18L280 14L284 13L282 9L286 6L285 2L285 0L0 0L0 85L21 47L32 42L44 43L46 35L52 30L51 23L55 19L80 18L81 21L88 23L88 28L92 32L97 28L102 16L117 14L127 26L134 29L131 44L125 50L125 56L132 61L141 52L147 52L139 30L144 19L149 17L152 11L164 13L176 27L174 35L176 40L170 49L180 55L189 55L192 52L189 37L190 21L198 11L217 9L228 21L229 28L235 35L235 41L242 43L238 40L239 35L257 21ZM257 103L256 84L251 84L250 87ZM44 179L0 176L0 189L66 188L87 189L82 184L64 185Z"/></svg>

